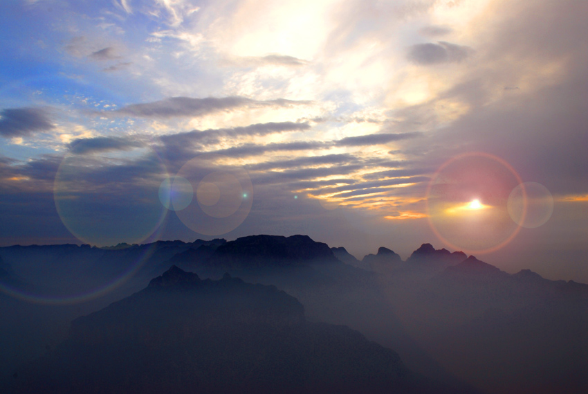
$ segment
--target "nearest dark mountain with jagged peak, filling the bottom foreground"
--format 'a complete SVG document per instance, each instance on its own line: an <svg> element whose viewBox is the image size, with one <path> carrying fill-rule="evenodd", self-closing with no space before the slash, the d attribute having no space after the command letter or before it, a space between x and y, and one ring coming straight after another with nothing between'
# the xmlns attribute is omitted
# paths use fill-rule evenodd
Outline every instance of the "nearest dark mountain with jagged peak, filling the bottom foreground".
<svg viewBox="0 0 588 394"><path fill-rule="evenodd" d="M310 323L275 287L172 267L73 321L11 393L448 393L349 328Z"/></svg>

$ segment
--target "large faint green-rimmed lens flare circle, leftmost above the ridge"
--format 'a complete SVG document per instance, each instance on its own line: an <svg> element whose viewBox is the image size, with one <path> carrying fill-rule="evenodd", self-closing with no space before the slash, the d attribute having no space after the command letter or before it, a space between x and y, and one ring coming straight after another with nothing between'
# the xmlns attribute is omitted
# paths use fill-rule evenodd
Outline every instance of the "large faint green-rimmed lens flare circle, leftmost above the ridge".
<svg viewBox="0 0 588 394"><path fill-rule="evenodd" d="M84 141L82 141L84 142ZM139 244L165 219L163 161L149 146L113 152L76 145L55 174L53 199L66 228L84 244Z"/></svg>

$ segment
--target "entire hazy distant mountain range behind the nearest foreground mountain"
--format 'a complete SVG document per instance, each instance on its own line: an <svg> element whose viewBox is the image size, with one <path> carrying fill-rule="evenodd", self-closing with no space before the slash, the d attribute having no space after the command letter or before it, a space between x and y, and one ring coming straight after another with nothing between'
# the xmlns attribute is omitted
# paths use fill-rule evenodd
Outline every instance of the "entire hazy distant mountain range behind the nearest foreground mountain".
<svg viewBox="0 0 588 394"><path fill-rule="evenodd" d="M0 292L0 312L6 316L0 321L6 333L0 336L5 350L0 373L14 373L33 356L64 357L53 349L66 338L69 321L122 298L143 294L143 299L156 292L152 278L165 283L181 271L193 272L198 280L190 286L199 283L199 288L209 286L204 283L220 288L235 277L245 280L243 286L275 286L304 305L304 327L347 325L396 351L406 370L450 392L471 391L470 385L501 394L588 392L588 285L546 280L529 270L508 274L430 244L405 261L385 247L358 260L343 247L330 248L306 235L0 248L0 288L4 283L39 298L89 292L125 278L104 296L73 305L44 307ZM169 289L183 285L174 286ZM93 330L81 323L92 320L84 319L109 310L76 320L66 343L73 343L76 327ZM35 319L40 323L32 324Z"/></svg>

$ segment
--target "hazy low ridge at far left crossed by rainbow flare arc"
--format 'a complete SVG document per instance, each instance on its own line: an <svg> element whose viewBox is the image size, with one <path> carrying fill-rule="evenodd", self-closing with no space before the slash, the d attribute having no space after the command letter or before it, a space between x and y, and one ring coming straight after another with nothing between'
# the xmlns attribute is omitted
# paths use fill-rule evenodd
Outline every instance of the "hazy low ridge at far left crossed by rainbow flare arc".
<svg viewBox="0 0 588 394"><path fill-rule="evenodd" d="M76 317L143 289L156 265L191 247L223 242L158 241L116 250L74 244L0 247L3 267L10 267L8 279L0 278L7 291L0 285L0 376L12 374L17 365L62 341ZM100 297L44 305L51 298L102 289L125 275L126 281ZM24 301L19 294L33 299Z"/></svg>

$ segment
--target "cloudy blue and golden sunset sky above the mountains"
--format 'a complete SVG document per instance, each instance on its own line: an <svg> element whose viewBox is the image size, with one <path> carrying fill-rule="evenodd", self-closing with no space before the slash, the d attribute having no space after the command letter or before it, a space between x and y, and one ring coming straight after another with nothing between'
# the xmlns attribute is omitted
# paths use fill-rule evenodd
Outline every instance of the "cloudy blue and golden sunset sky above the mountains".
<svg viewBox="0 0 588 394"><path fill-rule="evenodd" d="M6 0L0 245L307 234L588 283L588 3Z"/></svg>

